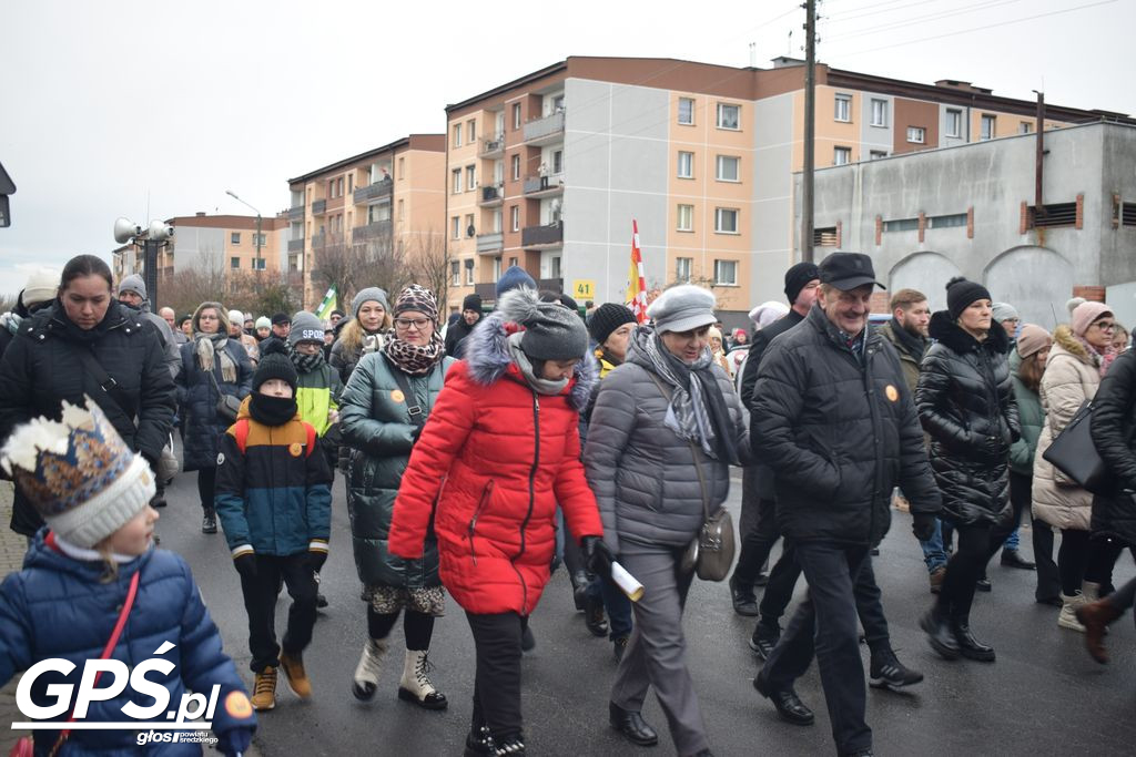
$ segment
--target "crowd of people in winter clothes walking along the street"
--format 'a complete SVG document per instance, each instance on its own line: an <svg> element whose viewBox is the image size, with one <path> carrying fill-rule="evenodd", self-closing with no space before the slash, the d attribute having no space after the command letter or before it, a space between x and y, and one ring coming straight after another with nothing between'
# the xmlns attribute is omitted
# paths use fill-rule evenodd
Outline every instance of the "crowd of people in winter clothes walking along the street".
<svg viewBox="0 0 1136 757"><path fill-rule="evenodd" d="M895 510L910 513L925 557L933 598L920 625L937 654L995 661L970 609L1001 554L1036 570L1037 602L1106 663L1108 625L1136 595L1136 582L1112 580L1136 545L1127 331L1118 337L1108 305L1070 301L1069 322L1051 334L982 284L945 284L945 310L901 289L875 327L871 259L832 253L791 267L787 302L755 306L751 328L730 331L698 286L665 289L640 322L620 303L580 309L537 292L517 267L488 313L477 295L445 319L421 286L368 286L328 322L304 311L251 318L220 302L181 319L152 313L140 277L116 287L92 255L61 276L36 272L0 316L0 469L16 482L10 527L28 544L24 570L0 589L0 682L45 657L81 664L105 646L128 659L135 646L173 641L162 684L172 695L219 684L218 748L240 754L256 713L276 707L278 673L312 696L303 655L326 604L336 473L367 629L352 693L375 696L401 619L399 698L448 707L429 651L449 595L476 648L467 757L526 754L528 620L561 563L618 664L611 726L657 745L642 715L653 690L677 752L711 754L683 614L695 566L712 557L703 535L732 468L742 507L728 587L734 611L755 619L753 685L784 721L810 725L794 682L816 657L838 754L872 754L869 683L899 690L924 678L892 647L872 571ZM1103 485L1046 457L1078 423L1091 424ZM219 527L232 554L251 697L184 561L154 548L178 469L197 472L201 531ZM1019 548L1024 518L1033 561ZM640 591L620 589L617 563ZM808 594L783 628L802 575ZM127 698L98 703L91 717L115 720ZM36 752L134 743L65 725L37 731Z"/></svg>

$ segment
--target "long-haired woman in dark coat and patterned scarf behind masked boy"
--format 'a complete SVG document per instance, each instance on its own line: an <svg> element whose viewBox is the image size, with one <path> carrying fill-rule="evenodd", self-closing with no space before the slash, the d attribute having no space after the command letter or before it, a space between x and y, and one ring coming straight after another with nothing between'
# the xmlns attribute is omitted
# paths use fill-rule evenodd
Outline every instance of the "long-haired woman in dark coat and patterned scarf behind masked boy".
<svg viewBox="0 0 1136 757"><path fill-rule="evenodd" d="M177 402L185 419L182 436L186 472L198 472L202 533L217 532L214 486L217 447L232 420L222 418L222 394L243 399L252 390L252 363L240 342L228 338L228 313L219 302L203 302L193 313L193 342L182 345Z"/></svg>

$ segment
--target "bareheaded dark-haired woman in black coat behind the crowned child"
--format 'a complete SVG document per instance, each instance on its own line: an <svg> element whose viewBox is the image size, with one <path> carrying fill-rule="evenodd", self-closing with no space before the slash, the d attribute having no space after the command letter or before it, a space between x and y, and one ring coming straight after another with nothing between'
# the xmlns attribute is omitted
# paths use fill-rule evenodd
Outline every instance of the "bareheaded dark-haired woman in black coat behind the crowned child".
<svg viewBox="0 0 1136 757"><path fill-rule="evenodd" d="M73 258L58 297L20 323L0 361L0 443L37 415L58 419L64 399L83 405L87 395L157 470L175 406L174 379L162 359L153 325L115 300L107 263L94 255ZM11 529L32 537L41 525L17 488Z"/></svg>

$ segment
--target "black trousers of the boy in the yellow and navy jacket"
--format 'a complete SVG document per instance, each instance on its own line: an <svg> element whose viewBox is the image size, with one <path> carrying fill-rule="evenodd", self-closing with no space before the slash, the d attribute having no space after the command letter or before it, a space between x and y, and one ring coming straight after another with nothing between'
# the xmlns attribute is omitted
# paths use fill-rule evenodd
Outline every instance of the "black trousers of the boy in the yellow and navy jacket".
<svg viewBox="0 0 1136 757"><path fill-rule="evenodd" d="M241 575L241 592L249 614L249 651L252 653L249 667L260 673L266 667L279 665L276 596L281 579L292 597L283 649L295 655L311 642L311 631L316 626L316 577L308 564L307 552L287 556L253 555L252 560L257 561L257 573L251 578Z"/></svg>

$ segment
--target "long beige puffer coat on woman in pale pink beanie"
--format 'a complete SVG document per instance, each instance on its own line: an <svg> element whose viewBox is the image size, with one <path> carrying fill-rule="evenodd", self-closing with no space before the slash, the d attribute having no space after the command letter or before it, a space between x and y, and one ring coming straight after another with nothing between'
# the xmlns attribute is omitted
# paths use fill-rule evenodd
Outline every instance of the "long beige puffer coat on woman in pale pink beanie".
<svg viewBox="0 0 1136 757"><path fill-rule="evenodd" d="M1042 376L1041 397L1045 426L1034 457L1034 518L1060 529L1087 531L1093 514L1093 495L1072 483L1045 459L1053 438L1072 420L1085 399L1096 395L1101 384L1100 358L1091 354L1068 326L1053 333L1053 348Z"/></svg>

